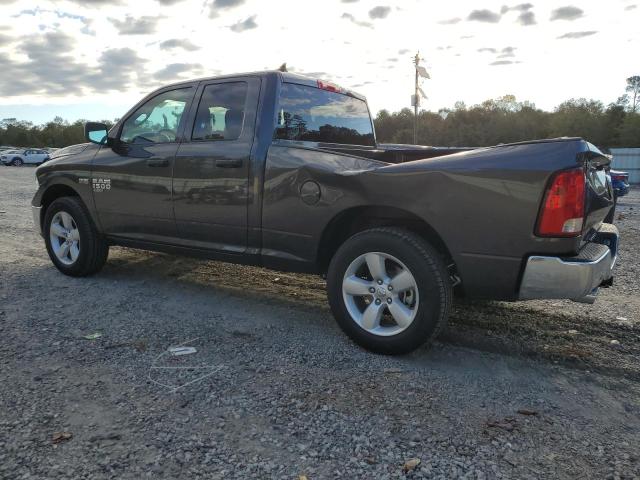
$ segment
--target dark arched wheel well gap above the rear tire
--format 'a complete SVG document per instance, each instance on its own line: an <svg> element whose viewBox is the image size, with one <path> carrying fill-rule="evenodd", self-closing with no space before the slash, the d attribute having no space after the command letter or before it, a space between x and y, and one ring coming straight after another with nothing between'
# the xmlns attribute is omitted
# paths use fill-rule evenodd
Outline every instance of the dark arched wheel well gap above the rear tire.
<svg viewBox="0 0 640 480"><path fill-rule="evenodd" d="M374 227L406 228L429 242L447 265L453 265L451 252L440 235L417 215L393 207L355 207L339 213L322 233L317 256L319 271L326 273L331 258L349 237ZM455 274L455 266L453 268L451 273Z"/></svg>

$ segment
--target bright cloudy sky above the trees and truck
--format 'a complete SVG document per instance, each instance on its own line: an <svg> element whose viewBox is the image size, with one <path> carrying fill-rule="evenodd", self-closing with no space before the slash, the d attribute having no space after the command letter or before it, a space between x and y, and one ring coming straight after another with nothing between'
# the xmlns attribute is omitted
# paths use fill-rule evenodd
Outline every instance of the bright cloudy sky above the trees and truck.
<svg viewBox="0 0 640 480"><path fill-rule="evenodd" d="M640 74L639 20L640 0L0 0L0 119L114 119L162 85L283 62L395 111L417 51L427 110L608 104Z"/></svg>

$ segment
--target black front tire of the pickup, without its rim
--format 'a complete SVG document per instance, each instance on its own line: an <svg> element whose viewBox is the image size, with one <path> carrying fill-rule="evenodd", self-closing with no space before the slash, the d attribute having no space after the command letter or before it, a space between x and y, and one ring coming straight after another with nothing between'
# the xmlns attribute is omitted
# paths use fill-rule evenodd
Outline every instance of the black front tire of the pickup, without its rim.
<svg viewBox="0 0 640 480"><path fill-rule="evenodd" d="M59 212L66 212L73 218L80 234L80 253L70 265L62 263L51 245L51 221ZM47 208L44 217L43 234L49 258L65 275L85 277L102 269L109 256L109 244L98 233L89 212L78 197L60 197Z"/></svg>

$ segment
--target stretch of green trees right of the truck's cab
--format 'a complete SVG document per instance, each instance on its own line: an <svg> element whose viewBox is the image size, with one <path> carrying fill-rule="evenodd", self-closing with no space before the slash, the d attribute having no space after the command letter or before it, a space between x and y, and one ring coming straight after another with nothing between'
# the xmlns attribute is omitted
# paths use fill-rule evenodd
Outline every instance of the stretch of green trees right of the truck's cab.
<svg viewBox="0 0 640 480"><path fill-rule="evenodd" d="M413 143L414 114L408 108L375 118L379 142ZM597 100L572 99L545 112L512 95L438 113L418 113L418 144L482 147L537 138L582 137L600 148L640 147L640 113Z"/></svg>

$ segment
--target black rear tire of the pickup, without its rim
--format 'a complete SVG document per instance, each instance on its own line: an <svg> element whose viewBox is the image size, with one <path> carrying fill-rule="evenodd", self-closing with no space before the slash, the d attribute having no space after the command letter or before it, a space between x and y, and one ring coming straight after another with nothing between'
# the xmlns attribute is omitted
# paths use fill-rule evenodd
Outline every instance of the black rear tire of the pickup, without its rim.
<svg viewBox="0 0 640 480"><path fill-rule="evenodd" d="M400 260L416 280L420 302L412 323L400 333L380 336L362 328L345 305L342 283L347 268L359 256L381 252ZM444 329L452 287L440 254L418 235L401 228L374 228L348 239L331 259L327 296L342 330L358 345L376 353L404 354L431 342Z"/></svg>

